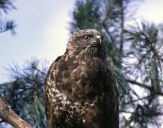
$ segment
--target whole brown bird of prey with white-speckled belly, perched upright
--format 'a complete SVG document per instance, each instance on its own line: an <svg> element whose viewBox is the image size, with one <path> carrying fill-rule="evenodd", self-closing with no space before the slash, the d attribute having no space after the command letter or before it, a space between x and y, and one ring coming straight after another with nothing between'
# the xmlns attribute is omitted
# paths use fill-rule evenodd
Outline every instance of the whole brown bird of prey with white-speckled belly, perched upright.
<svg viewBox="0 0 163 128"><path fill-rule="evenodd" d="M118 128L118 96L106 57L98 31L72 34L46 78L49 128Z"/></svg>

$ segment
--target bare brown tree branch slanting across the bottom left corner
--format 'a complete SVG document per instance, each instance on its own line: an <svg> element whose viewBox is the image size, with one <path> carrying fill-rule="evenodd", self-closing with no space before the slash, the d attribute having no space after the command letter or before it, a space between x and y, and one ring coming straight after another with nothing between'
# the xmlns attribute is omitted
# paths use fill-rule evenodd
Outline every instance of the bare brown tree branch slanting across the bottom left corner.
<svg viewBox="0 0 163 128"><path fill-rule="evenodd" d="M5 122L11 124L15 128L32 128L30 124L21 119L0 96L0 117Z"/></svg>

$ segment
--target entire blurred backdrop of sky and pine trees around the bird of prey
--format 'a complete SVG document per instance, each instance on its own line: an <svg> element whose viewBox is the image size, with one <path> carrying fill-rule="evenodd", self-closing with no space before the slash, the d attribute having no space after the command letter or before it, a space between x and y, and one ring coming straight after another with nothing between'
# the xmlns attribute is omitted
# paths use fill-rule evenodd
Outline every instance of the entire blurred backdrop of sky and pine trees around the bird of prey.
<svg viewBox="0 0 163 128"><path fill-rule="evenodd" d="M163 128L162 0L0 0L0 96L47 127L44 81L72 32L104 35L120 92L120 128ZM0 119L0 128L11 126Z"/></svg>

